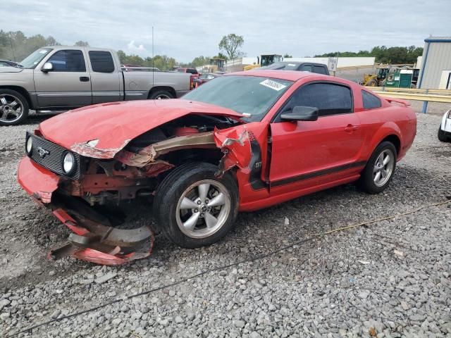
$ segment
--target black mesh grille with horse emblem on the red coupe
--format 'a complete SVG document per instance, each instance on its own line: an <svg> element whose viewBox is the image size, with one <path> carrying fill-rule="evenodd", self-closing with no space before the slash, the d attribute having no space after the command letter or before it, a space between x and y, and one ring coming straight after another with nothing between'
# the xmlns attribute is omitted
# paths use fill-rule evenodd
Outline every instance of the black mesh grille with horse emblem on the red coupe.
<svg viewBox="0 0 451 338"><path fill-rule="evenodd" d="M27 138L32 137L32 151L29 157L35 161L37 164L50 171L68 177L72 180L78 180L80 178L80 155L72 153L75 156L76 168L73 175L68 176L63 173L63 168L61 168L61 163L63 161L63 153L67 149L53 142L47 141L47 139L42 139L37 137L35 134L30 134L27 132ZM41 154L39 154L39 150Z"/></svg>

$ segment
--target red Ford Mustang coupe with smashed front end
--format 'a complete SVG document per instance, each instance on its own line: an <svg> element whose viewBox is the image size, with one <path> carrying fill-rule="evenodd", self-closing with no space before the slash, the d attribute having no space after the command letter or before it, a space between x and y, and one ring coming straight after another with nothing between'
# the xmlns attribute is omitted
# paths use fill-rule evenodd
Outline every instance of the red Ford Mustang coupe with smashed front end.
<svg viewBox="0 0 451 338"><path fill-rule="evenodd" d="M163 234L188 248L209 245L238 211L353 181L382 192L415 134L404 101L337 77L255 70L182 99L51 118L27 134L18 181L73 231L52 256L121 264L149 255L152 230L117 227L99 206L152 196Z"/></svg>

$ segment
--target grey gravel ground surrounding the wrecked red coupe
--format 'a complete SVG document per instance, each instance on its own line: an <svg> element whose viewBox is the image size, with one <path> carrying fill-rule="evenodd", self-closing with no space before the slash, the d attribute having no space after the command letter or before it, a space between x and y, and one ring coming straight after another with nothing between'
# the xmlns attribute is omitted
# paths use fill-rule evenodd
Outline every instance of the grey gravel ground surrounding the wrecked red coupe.
<svg viewBox="0 0 451 338"><path fill-rule="evenodd" d="M113 301L18 336L451 337L451 203L321 235L447 201L451 144L436 136L447 107L429 108L383 194L348 184L242 213L218 244L157 237L152 256L121 267L47 261L68 231L16 183L25 130L42 118L0 127L0 336ZM145 202L128 208L153 222Z"/></svg>

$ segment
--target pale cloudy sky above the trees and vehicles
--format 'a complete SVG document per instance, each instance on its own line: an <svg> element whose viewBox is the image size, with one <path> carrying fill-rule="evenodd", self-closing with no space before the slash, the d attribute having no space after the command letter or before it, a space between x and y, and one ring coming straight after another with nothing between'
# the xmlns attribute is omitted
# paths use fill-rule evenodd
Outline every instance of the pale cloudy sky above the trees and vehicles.
<svg viewBox="0 0 451 338"><path fill-rule="evenodd" d="M155 54L187 62L218 53L223 35L245 38L247 56L313 56L372 46L423 46L429 35L451 35L450 0L434 1L144 1L3 0L3 30L53 36L62 44Z"/></svg>

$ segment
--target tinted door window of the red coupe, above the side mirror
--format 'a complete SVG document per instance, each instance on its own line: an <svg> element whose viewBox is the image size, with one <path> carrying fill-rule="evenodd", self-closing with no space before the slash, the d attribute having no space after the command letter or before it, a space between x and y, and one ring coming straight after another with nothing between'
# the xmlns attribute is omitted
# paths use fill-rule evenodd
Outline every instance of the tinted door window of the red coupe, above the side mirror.
<svg viewBox="0 0 451 338"><path fill-rule="evenodd" d="M320 116L352 113L351 89L333 83L306 84L292 94L282 111L295 106L316 107Z"/></svg>

